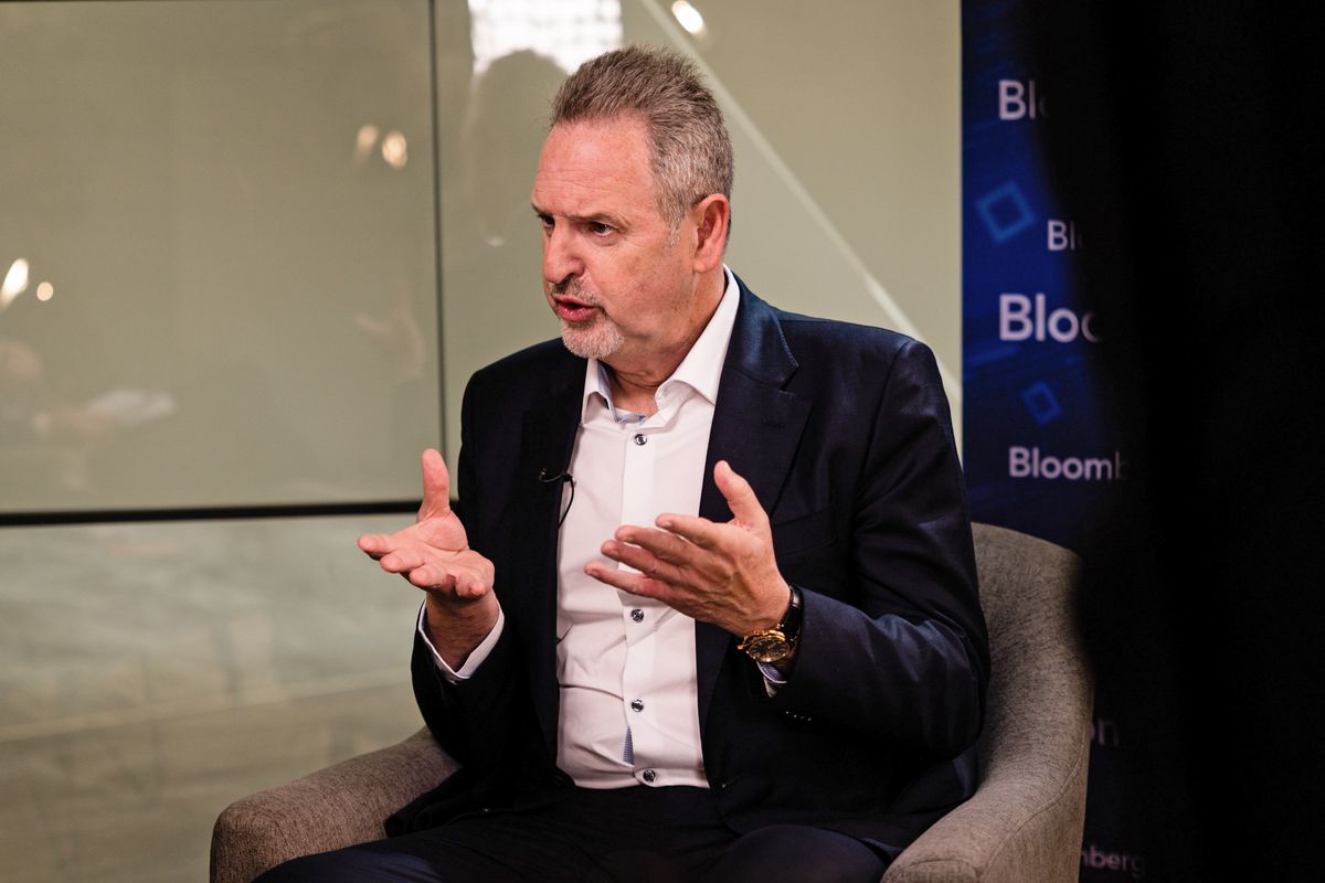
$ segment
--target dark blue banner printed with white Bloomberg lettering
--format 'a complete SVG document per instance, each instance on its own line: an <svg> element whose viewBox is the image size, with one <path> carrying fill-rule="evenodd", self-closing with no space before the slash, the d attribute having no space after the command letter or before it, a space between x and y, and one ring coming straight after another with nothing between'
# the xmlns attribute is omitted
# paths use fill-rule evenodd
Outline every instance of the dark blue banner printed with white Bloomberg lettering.
<svg viewBox="0 0 1325 883"><path fill-rule="evenodd" d="M962 3L963 451L971 516L1084 552L1130 466L1100 379L1109 316L1080 303L1090 232L1051 189L1053 83L1018 45L1020 0ZM1097 702L1080 879L1143 880L1122 792L1128 733Z"/></svg>

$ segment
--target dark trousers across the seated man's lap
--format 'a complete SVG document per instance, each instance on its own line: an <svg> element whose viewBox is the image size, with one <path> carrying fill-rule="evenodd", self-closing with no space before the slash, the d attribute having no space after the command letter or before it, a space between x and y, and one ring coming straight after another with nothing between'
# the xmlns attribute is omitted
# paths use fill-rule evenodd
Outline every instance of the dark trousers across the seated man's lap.
<svg viewBox="0 0 1325 883"><path fill-rule="evenodd" d="M853 837L803 825L738 835L702 788L575 788L534 809L294 859L258 883L877 883L888 860Z"/></svg>

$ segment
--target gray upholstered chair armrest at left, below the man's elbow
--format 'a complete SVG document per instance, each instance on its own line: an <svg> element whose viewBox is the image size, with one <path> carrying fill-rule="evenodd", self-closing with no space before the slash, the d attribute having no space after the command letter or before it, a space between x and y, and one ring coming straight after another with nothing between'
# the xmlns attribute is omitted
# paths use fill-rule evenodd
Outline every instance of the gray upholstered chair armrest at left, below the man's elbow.
<svg viewBox="0 0 1325 883"><path fill-rule="evenodd" d="M383 821L458 764L427 729L231 804L212 830L212 883L249 883L281 862L386 837Z"/></svg>

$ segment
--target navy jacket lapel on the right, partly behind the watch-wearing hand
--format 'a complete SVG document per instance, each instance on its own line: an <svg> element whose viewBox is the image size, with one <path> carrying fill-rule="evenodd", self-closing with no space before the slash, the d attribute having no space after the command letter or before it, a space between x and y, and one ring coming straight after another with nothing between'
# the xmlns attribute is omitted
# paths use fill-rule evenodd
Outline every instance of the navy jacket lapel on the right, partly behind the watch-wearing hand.
<svg viewBox="0 0 1325 883"><path fill-rule="evenodd" d="M808 396L786 391L795 371L796 360L787 348L776 314L742 282L741 306L722 365L705 458L700 495L700 515L704 518L731 520L731 510L713 482L713 467L721 459L750 482L766 512L776 507L812 402ZM701 731L708 721L722 659L731 643L731 634L718 626L696 624Z"/></svg>

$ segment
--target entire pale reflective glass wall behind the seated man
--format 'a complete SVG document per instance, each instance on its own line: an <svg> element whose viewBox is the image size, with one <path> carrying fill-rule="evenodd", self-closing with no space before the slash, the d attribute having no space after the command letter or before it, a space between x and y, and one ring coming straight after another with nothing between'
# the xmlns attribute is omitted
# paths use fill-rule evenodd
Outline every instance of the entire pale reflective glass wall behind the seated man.
<svg viewBox="0 0 1325 883"><path fill-rule="evenodd" d="M546 103L623 42L723 103L733 269L955 405L955 3L0 1L0 883L199 879L225 804L417 728L354 539L555 334Z"/></svg>

